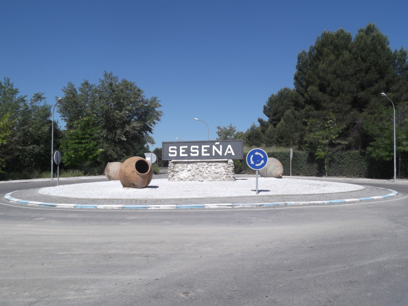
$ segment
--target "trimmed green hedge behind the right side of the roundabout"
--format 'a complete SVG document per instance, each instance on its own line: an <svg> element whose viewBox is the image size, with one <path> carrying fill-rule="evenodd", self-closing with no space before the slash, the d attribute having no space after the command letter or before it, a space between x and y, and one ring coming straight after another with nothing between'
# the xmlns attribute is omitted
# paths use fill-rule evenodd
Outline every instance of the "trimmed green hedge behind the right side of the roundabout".
<svg viewBox="0 0 408 306"><path fill-rule="evenodd" d="M276 158L284 167L284 176L290 175L289 151L268 151L268 157ZM236 173L255 173L246 164L247 152L244 159L234 161ZM408 160L408 154L403 155ZM333 152L328 156L327 175L343 177L367 177L371 179L390 179L394 176L393 161L376 161L364 151ZM398 169L398 166L397 166ZM398 170L397 170L398 171ZM323 160L316 160L313 153L293 151L292 175L296 176L323 176ZM398 177L408 176L408 166L401 164L401 173Z"/></svg>

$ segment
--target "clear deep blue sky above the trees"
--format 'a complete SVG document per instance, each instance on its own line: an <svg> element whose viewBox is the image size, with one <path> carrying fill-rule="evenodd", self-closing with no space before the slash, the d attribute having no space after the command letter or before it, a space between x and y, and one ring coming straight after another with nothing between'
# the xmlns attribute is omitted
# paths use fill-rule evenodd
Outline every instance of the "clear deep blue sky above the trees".
<svg viewBox="0 0 408 306"><path fill-rule="evenodd" d="M210 139L218 125L258 124L323 31L354 37L372 22L393 50L408 48L407 12L406 0L3 1L0 78L28 98L43 92L47 104L68 82L97 84L104 71L135 82L161 101L154 149L176 137L207 140L194 117Z"/></svg>

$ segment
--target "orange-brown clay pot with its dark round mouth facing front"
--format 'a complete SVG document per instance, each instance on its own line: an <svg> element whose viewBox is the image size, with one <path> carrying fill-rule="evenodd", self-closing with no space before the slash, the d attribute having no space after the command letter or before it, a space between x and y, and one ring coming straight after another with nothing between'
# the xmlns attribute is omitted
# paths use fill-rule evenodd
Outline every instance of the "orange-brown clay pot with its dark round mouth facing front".
<svg viewBox="0 0 408 306"><path fill-rule="evenodd" d="M125 160L119 171L119 180L123 187L145 188L150 184L152 177L150 163L137 156Z"/></svg>

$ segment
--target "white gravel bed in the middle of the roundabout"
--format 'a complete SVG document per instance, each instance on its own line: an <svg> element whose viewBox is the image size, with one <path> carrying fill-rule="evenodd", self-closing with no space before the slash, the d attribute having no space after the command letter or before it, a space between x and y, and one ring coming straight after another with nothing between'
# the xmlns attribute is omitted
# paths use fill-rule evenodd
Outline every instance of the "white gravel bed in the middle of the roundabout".
<svg viewBox="0 0 408 306"><path fill-rule="evenodd" d="M262 195L289 195L348 192L364 189L363 186L326 181L301 179L274 179L259 177L258 190ZM167 179L152 180L146 188L124 188L120 181L82 183L46 187L42 194L74 198L203 198L256 195L256 177L238 178L229 182L169 182Z"/></svg>

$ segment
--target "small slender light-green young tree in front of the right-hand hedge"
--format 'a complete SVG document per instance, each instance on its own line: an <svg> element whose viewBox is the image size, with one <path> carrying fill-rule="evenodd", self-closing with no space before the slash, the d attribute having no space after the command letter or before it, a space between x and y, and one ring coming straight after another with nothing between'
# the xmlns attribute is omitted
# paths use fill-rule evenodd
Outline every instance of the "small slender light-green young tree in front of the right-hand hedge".
<svg viewBox="0 0 408 306"><path fill-rule="evenodd" d="M336 144L344 143L338 139L340 133L345 128L345 125L338 125L335 116L328 113L321 121L316 118L308 120L309 133L305 136L305 140L309 144L309 148L315 152L316 159L324 161L324 172L327 176L328 152L335 147Z"/></svg>

